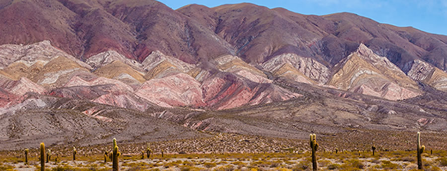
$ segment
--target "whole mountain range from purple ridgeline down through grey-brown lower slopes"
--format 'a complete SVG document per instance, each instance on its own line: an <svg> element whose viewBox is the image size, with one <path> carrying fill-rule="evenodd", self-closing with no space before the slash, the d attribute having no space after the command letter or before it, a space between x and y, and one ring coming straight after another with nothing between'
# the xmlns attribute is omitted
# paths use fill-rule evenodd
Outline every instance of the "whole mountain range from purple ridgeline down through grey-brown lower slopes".
<svg viewBox="0 0 447 171"><path fill-rule="evenodd" d="M145 131L158 138L447 129L445 35L250 3L0 0L0 16L3 147L86 143L73 134L94 137L94 127L97 139L124 136L142 118L157 120ZM118 130L106 133L109 122ZM80 125L88 131L69 131Z"/></svg>

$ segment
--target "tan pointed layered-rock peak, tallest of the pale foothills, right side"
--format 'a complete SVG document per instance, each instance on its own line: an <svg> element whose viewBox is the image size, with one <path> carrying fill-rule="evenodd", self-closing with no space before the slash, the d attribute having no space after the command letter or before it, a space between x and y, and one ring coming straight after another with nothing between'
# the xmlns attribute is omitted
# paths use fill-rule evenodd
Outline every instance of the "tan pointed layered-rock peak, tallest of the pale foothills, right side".
<svg viewBox="0 0 447 171"><path fill-rule="evenodd" d="M386 57L375 55L364 45L335 66L329 85L389 100L420 95L417 84Z"/></svg>

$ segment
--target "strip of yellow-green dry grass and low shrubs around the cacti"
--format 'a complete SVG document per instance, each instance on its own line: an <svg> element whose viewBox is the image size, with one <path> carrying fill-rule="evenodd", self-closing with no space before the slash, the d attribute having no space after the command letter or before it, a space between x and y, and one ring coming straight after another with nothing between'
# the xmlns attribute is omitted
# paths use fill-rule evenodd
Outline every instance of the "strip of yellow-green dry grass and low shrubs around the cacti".
<svg viewBox="0 0 447 171"><path fill-rule="evenodd" d="M321 171L410 171L416 166L414 151L380 151L380 155L368 156L358 151L343 151L338 154L317 154ZM447 168L444 151L424 153L425 171L442 171ZM62 161L61 161L62 160ZM109 161L109 160L108 160ZM30 158L23 165L18 157L0 157L0 171L15 171L17 168L37 170L37 158ZM47 165L48 171L108 171L111 162L103 162L102 155L79 155L73 162L71 156L59 157L59 163ZM310 154L300 153L219 153L219 154L168 154L164 158L154 155L140 159L140 154L124 154L120 158L120 171L311 171Z"/></svg>

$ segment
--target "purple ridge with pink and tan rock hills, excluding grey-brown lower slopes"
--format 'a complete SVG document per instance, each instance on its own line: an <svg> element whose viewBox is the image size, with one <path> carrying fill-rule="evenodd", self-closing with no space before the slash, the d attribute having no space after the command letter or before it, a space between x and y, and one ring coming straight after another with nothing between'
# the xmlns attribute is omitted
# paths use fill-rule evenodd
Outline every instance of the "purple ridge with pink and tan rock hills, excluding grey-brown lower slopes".
<svg viewBox="0 0 447 171"><path fill-rule="evenodd" d="M2 4L0 14L2 88L14 95L51 92L142 110L139 98L227 109L295 97L282 79L390 100L423 93L416 82L446 91L446 36L351 13L23 0ZM26 86L6 87L13 83Z"/></svg>

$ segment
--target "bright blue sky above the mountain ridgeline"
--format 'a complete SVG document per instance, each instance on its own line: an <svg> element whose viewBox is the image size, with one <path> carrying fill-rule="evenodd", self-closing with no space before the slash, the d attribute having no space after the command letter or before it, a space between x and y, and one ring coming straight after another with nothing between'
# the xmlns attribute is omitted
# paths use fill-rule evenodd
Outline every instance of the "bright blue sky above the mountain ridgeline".
<svg viewBox="0 0 447 171"><path fill-rule="evenodd" d="M214 7L250 2L269 8L283 7L301 14L352 12L380 23L447 35L447 0L159 0L172 9L197 3Z"/></svg>

